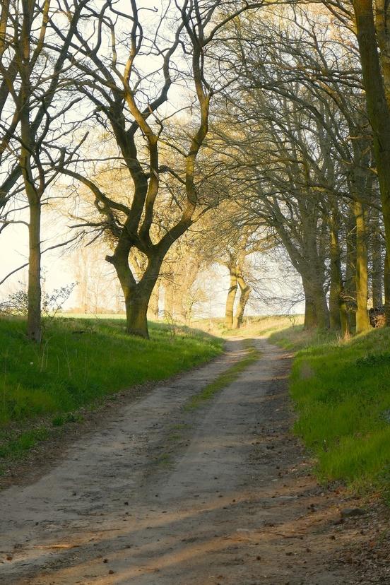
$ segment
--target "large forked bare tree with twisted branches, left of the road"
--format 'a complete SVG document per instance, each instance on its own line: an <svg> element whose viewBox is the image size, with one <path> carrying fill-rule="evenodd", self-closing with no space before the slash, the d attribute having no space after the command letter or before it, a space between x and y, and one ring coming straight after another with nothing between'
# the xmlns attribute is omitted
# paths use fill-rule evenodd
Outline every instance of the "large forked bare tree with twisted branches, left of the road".
<svg viewBox="0 0 390 585"><path fill-rule="evenodd" d="M196 161L208 133L211 100L220 87L218 75L211 74L207 79L208 47L218 43L226 23L260 5L236 0L185 0L176 4L174 11L170 3L158 10L140 8L136 0L131 0L126 12L109 2L98 10L90 1L87 13L95 28L80 26L77 43L71 44L69 59L76 88L93 105L96 121L105 131L110 128L121 164L132 182L131 193L126 203L115 201L88 177L87 169L83 172L81 164L73 168L66 165L66 155L59 167L93 192L102 215L99 227L104 224L117 241L107 261L114 266L122 285L126 331L133 335L148 337L146 312L162 261L173 242L194 222L199 206L207 205L196 183ZM174 114L168 94L179 81L193 96L189 111L194 113L187 126L185 148L170 143L165 133L167 119ZM162 165L162 151L167 148L175 150L181 159L174 169ZM150 230L156 201L161 198L163 173L177 179L182 195L174 202L178 217L160 240L154 241ZM133 248L147 259L139 280L129 264Z"/></svg>

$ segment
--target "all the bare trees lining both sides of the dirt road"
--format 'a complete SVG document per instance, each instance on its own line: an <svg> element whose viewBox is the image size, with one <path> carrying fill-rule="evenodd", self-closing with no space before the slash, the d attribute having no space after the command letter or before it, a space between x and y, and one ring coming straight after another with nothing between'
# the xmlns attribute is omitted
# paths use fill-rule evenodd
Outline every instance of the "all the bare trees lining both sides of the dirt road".
<svg viewBox="0 0 390 585"><path fill-rule="evenodd" d="M369 298L390 307L387 18L368 0L4 1L1 225L28 208L30 338L59 194L75 231L56 245L104 243L131 334L148 336L162 278L187 319L183 290L215 262L240 326L245 266L280 247L306 326L368 329Z"/></svg>

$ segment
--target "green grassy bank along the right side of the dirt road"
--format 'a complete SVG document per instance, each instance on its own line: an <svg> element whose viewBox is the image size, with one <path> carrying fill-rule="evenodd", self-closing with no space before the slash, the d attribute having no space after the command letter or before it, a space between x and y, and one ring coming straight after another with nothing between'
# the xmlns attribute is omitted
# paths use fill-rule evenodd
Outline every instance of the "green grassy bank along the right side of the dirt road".
<svg viewBox="0 0 390 585"><path fill-rule="evenodd" d="M270 341L297 350L290 381L295 432L314 451L319 476L389 492L390 331L341 341L295 327Z"/></svg>

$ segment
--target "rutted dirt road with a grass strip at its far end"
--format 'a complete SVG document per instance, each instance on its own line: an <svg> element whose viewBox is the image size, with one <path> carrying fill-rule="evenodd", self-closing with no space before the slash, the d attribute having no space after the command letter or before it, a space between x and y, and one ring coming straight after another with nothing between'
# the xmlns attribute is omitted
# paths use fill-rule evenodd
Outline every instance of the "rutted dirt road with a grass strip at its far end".
<svg viewBox="0 0 390 585"><path fill-rule="evenodd" d="M1 584L338 585L356 526L290 435L290 359L261 358L201 408L189 397L242 356L111 413L52 471L0 493ZM379 582L379 581L378 581Z"/></svg>

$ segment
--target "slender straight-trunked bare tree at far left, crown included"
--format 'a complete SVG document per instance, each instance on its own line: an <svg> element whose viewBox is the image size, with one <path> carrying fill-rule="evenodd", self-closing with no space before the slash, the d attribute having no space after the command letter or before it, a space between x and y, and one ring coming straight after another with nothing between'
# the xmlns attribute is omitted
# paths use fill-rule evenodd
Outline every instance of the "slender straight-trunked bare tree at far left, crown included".
<svg viewBox="0 0 390 585"><path fill-rule="evenodd" d="M0 17L1 156L4 175L0 208L24 191L29 209L28 336L41 338L41 213L53 170L53 142L66 130L64 115L73 106L69 95L59 103L66 54L86 0L81 1L61 30L57 54L52 51L53 28L61 23L57 4L50 0L6 0ZM57 24L56 24L56 21ZM77 101L77 100L76 100ZM6 154L7 153L7 154ZM11 154L10 154L11 153ZM8 217L5 224L9 223Z"/></svg>

